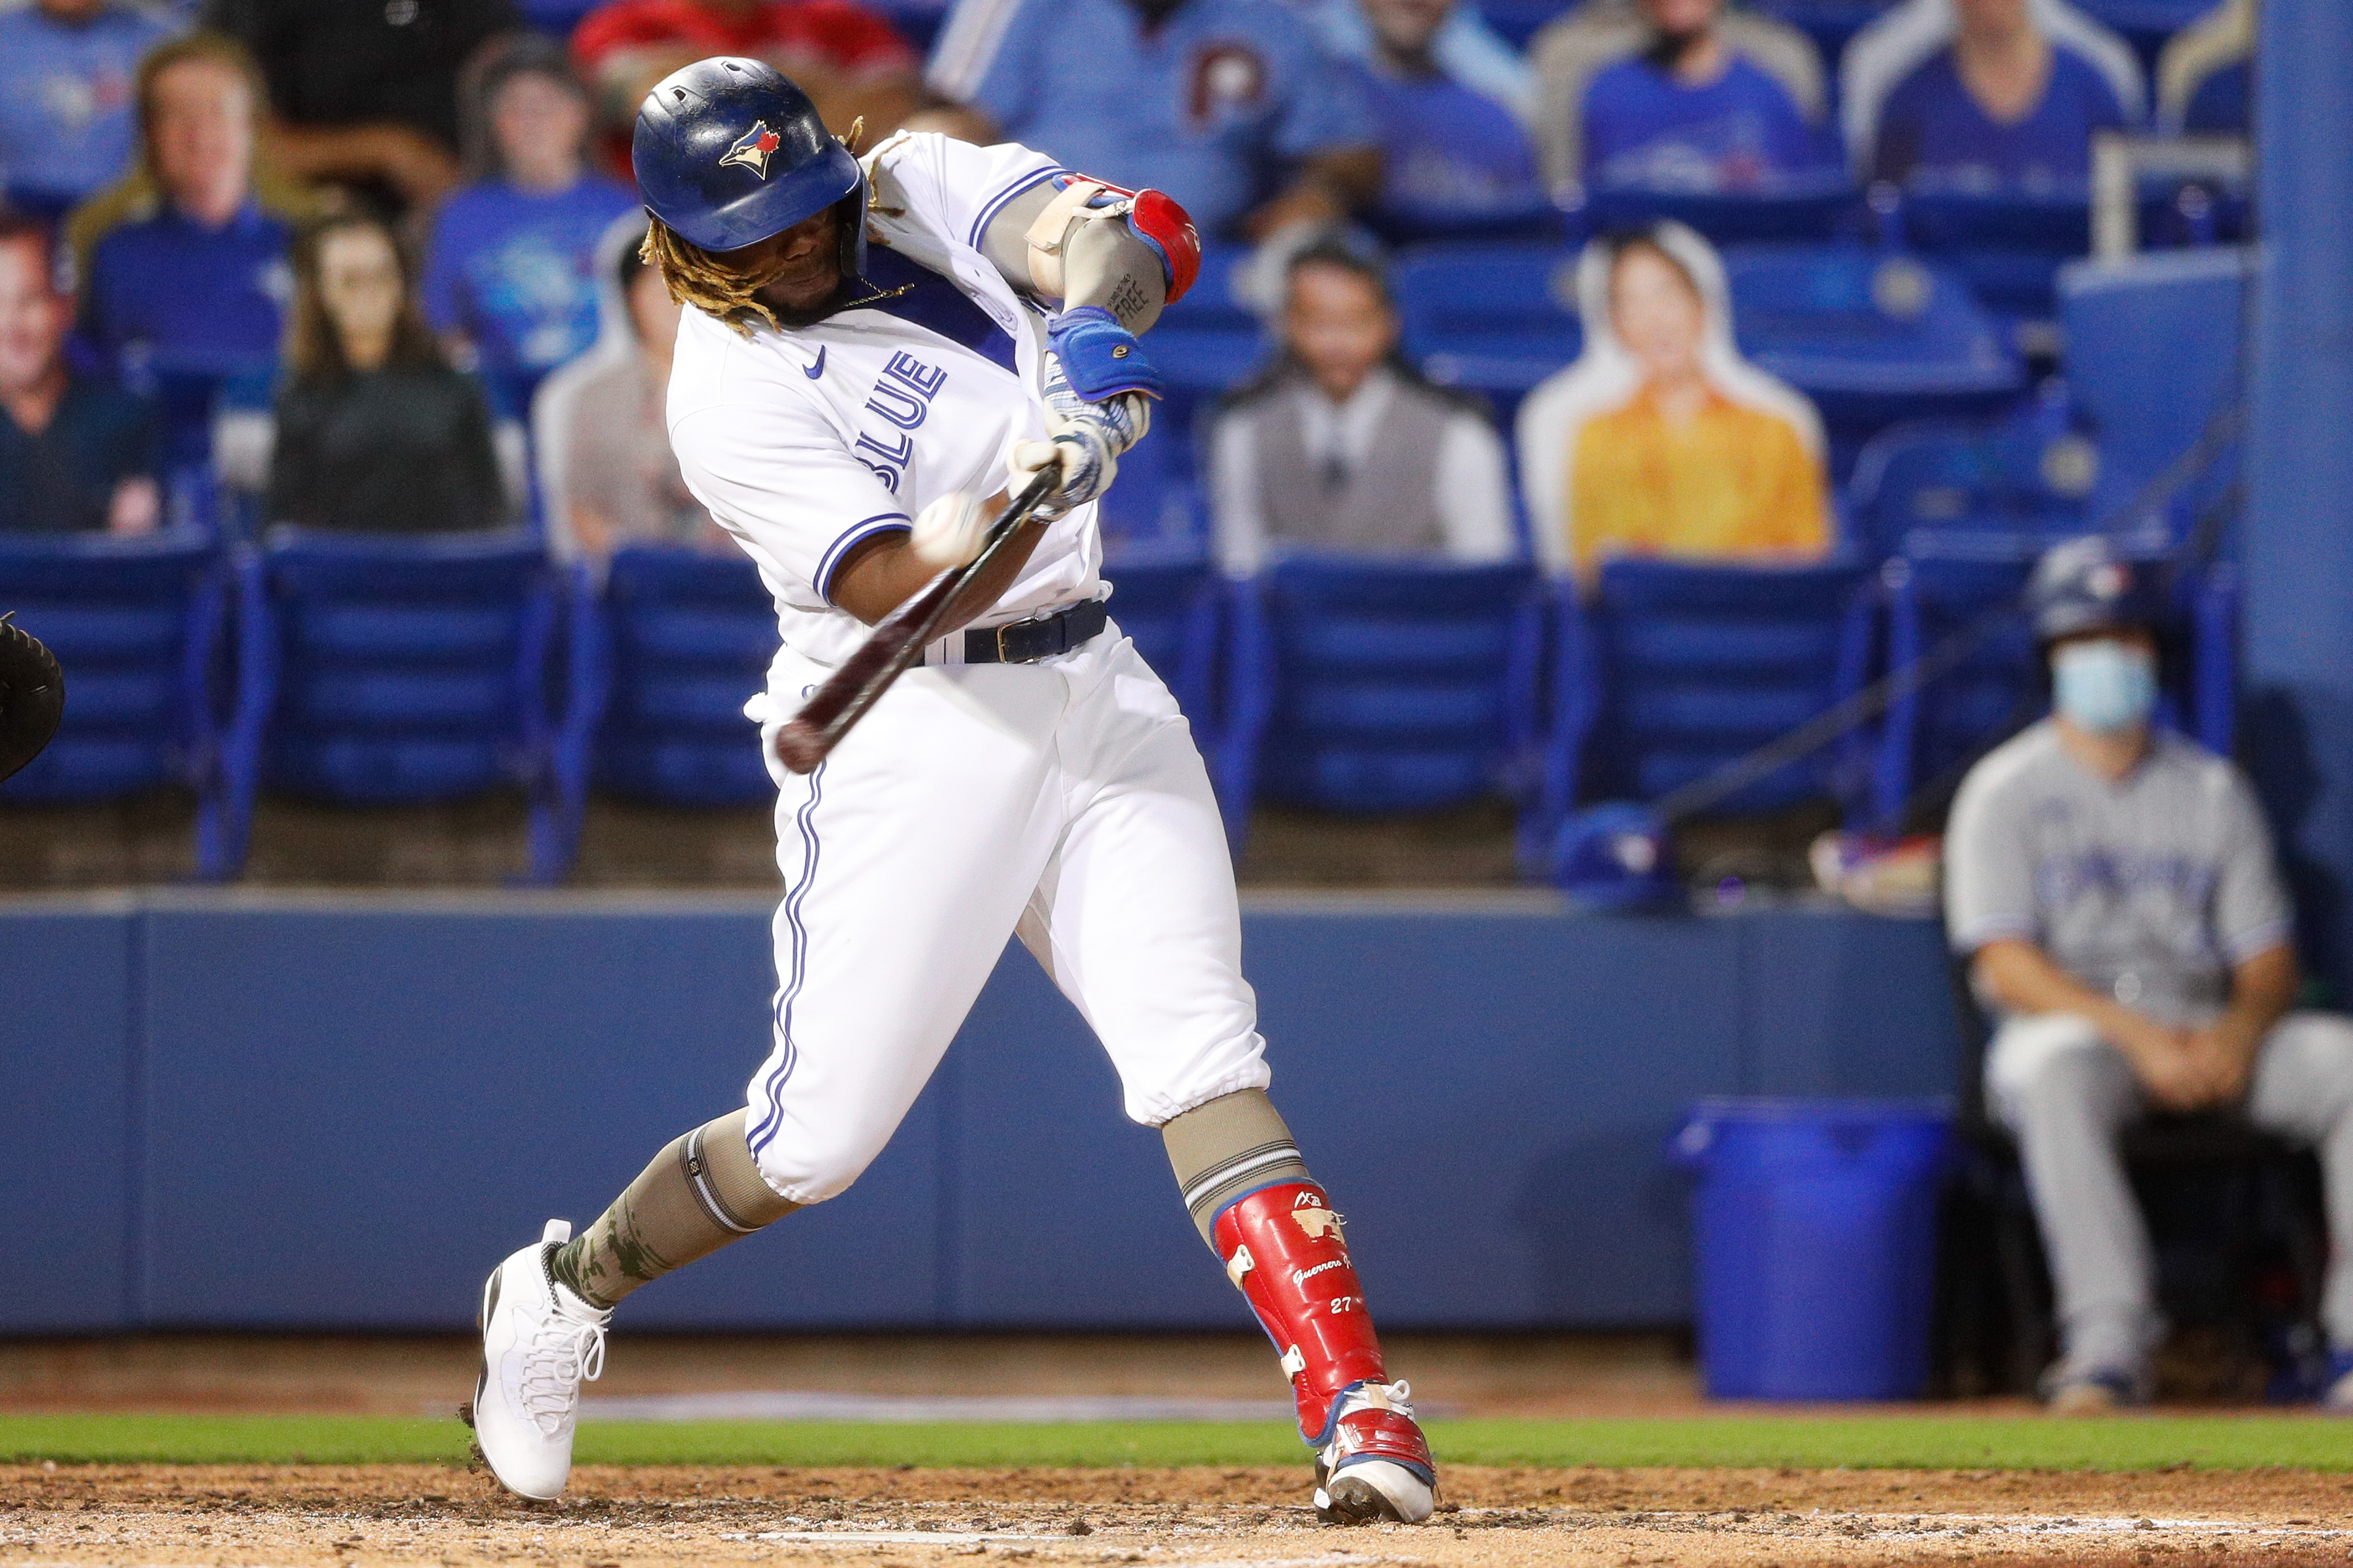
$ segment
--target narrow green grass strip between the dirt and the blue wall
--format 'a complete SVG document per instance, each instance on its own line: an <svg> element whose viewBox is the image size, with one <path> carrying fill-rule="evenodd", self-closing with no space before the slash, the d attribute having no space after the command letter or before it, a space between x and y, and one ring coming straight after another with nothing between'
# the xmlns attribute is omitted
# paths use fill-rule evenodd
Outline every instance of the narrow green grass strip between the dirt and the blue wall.
<svg viewBox="0 0 2353 1568"><path fill-rule="evenodd" d="M464 1465L454 1420L369 1415L7 1415L0 1460ZM1435 1422L1457 1465L1744 1465L1826 1469L2353 1469L2353 1425L2313 1415L1701 1415ZM1304 1465L1280 1427L595 1422L584 1465Z"/></svg>

